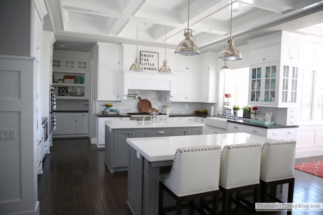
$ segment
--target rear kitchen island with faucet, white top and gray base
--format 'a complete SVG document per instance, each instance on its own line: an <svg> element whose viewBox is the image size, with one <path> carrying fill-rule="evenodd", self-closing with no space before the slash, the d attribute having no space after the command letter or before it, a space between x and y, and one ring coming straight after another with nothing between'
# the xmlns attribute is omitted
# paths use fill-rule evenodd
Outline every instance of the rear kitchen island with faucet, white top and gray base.
<svg viewBox="0 0 323 215"><path fill-rule="evenodd" d="M189 120L104 121L105 164L110 172L128 170L127 138L171 137L201 135L204 124ZM156 139L158 139L156 138Z"/></svg>

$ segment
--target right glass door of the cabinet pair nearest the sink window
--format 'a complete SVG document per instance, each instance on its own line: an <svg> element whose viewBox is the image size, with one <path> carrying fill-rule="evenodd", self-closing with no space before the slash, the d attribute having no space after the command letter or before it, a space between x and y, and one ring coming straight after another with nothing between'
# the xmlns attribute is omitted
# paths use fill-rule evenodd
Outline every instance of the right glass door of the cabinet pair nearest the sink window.
<svg viewBox="0 0 323 215"><path fill-rule="evenodd" d="M277 76L277 66L265 66L264 71L264 102L275 103L276 99L276 76ZM277 101L276 101L277 102Z"/></svg>

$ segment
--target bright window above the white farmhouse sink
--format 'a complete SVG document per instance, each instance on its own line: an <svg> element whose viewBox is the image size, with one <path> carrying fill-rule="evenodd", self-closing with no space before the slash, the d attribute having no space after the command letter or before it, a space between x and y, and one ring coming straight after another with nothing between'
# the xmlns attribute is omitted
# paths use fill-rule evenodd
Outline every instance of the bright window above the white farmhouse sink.
<svg viewBox="0 0 323 215"><path fill-rule="evenodd" d="M249 68L237 69L225 72L225 93L231 94L229 102L231 107L239 105L240 108L248 104ZM224 97L224 102L228 99Z"/></svg>

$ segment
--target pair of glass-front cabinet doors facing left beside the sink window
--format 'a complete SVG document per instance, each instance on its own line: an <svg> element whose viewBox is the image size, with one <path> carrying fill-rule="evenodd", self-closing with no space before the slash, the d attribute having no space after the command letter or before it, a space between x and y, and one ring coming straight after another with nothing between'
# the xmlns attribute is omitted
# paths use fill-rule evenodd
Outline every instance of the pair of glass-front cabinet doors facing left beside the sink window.
<svg viewBox="0 0 323 215"><path fill-rule="evenodd" d="M277 105L278 63L259 64L250 68L249 104Z"/></svg>

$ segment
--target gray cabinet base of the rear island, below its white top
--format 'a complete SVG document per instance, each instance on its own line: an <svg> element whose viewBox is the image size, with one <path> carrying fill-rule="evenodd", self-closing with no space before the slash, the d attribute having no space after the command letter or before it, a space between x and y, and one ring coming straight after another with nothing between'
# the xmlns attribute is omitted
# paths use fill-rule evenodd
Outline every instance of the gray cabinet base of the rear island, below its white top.
<svg viewBox="0 0 323 215"><path fill-rule="evenodd" d="M112 129L105 125L105 164L110 172L128 170L127 138L201 135L202 128Z"/></svg>

